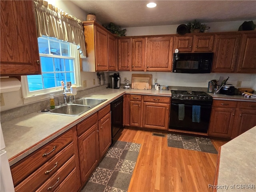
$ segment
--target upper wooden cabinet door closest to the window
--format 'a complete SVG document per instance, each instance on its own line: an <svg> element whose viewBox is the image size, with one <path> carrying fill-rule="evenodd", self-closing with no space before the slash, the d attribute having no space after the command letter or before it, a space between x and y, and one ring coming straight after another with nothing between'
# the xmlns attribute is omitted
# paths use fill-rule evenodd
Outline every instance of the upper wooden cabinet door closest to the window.
<svg viewBox="0 0 256 192"><path fill-rule="evenodd" d="M95 26L96 71L108 70L108 33Z"/></svg>

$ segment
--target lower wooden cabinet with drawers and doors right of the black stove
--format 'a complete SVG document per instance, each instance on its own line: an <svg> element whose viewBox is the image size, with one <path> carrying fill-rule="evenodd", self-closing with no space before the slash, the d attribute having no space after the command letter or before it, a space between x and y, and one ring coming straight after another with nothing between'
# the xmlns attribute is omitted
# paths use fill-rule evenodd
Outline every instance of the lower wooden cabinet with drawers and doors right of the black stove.
<svg viewBox="0 0 256 192"><path fill-rule="evenodd" d="M214 100L208 135L235 138L256 126L256 102Z"/></svg>

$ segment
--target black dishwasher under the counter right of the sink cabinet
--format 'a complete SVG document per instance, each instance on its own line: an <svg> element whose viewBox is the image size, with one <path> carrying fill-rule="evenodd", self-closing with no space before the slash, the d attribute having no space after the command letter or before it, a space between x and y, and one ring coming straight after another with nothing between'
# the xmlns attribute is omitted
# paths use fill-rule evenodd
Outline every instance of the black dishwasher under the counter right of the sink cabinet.
<svg viewBox="0 0 256 192"><path fill-rule="evenodd" d="M112 139L116 136L120 128L123 127L123 100L123 96L121 96L110 104Z"/></svg>

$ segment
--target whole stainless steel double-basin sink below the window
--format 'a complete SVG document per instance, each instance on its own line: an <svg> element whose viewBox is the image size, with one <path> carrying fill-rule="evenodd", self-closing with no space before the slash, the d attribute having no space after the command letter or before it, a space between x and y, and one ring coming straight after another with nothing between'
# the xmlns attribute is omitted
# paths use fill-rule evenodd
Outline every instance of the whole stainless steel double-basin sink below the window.
<svg viewBox="0 0 256 192"><path fill-rule="evenodd" d="M103 103L106 100L107 99L80 98L66 105L56 107L55 109L52 109L52 110L48 110L44 113L67 115L67 116L79 116L84 112L98 106L99 104Z"/></svg>

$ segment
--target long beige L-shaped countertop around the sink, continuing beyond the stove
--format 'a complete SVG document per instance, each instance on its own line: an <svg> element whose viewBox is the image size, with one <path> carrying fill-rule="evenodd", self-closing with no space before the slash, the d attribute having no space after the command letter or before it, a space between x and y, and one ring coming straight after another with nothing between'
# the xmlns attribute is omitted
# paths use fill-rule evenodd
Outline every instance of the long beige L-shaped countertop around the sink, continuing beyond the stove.
<svg viewBox="0 0 256 192"><path fill-rule="evenodd" d="M2 123L2 131L10 166L126 93L169 97L172 95L170 90L106 88L83 96L107 100L78 117L35 112L4 122ZM244 100L242 96L222 96L223 99L228 100L230 100L230 97L236 97L236 100ZM256 102L256 100L248 98L245 98L245 100Z"/></svg>

